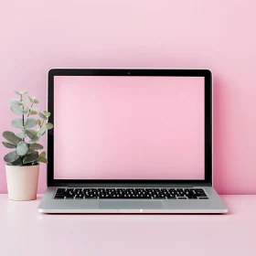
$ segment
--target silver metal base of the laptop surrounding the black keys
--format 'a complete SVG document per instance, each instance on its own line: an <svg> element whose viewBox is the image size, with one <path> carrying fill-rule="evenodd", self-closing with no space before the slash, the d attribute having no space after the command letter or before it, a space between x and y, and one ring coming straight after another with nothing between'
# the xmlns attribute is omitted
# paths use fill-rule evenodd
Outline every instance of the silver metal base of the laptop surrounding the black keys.
<svg viewBox="0 0 256 256"><path fill-rule="evenodd" d="M58 187L48 187L41 213L219 214L228 208L213 187L203 188L208 199L54 199Z"/></svg>

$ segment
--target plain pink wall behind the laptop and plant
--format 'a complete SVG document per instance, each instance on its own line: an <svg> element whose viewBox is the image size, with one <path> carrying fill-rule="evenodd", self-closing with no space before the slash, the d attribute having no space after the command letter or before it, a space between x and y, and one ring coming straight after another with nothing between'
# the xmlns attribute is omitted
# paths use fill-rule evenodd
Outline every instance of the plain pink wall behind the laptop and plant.
<svg viewBox="0 0 256 256"><path fill-rule="evenodd" d="M206 67L214 73L215 187L256 193L255 7L251 0L5 1L1 131L13 118L13 90L46 101L51 67ZM0 192L6 191L4 153L1 147ZM45 180L43 167L39 192Z"/></svg>

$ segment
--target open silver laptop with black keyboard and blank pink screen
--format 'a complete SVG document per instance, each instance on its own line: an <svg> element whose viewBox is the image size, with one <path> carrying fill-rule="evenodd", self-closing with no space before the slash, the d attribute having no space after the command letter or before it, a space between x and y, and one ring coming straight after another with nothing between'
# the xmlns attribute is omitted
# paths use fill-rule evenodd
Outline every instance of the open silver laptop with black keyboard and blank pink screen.
<svg viewBox="0 0 256 256"><path fill-rule="evenodd" d="M208 69L50 69L42 213L226 213Z"/></svg>

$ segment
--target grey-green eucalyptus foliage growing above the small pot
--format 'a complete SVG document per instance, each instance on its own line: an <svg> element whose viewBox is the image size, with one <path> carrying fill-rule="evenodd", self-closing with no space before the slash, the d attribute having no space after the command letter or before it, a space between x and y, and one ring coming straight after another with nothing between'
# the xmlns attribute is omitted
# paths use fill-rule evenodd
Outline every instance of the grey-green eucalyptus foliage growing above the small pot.
<svg viewBox="0 0 256 256"><path fill-rule="evenodd" d="M47 164L46 152L43 151L40 154L38 152L44 147L37 142L47 130L53 128L53 124L48 123L50 112L39 112L39 109L35 107L38 103L37 98L27 96L27 91L15 92L19 95L19 99L11 100L10 109L16 115L20 115L20 118L16 118L11 124L19 129L19 132L5 131L3 133L6 140L3 144L13 150L5 155L5 163L7 165Z"/></svg>

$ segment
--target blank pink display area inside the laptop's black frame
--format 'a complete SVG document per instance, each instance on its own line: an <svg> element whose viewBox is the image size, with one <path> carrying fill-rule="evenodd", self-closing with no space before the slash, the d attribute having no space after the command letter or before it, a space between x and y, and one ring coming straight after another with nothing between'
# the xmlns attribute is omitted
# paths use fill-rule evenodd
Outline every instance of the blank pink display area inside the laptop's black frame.
<svg viewBox="0 0 256 256"><path fill-rule="evenodd" d="M204 179L204 78L54 78L54 178Z"/></svg>

